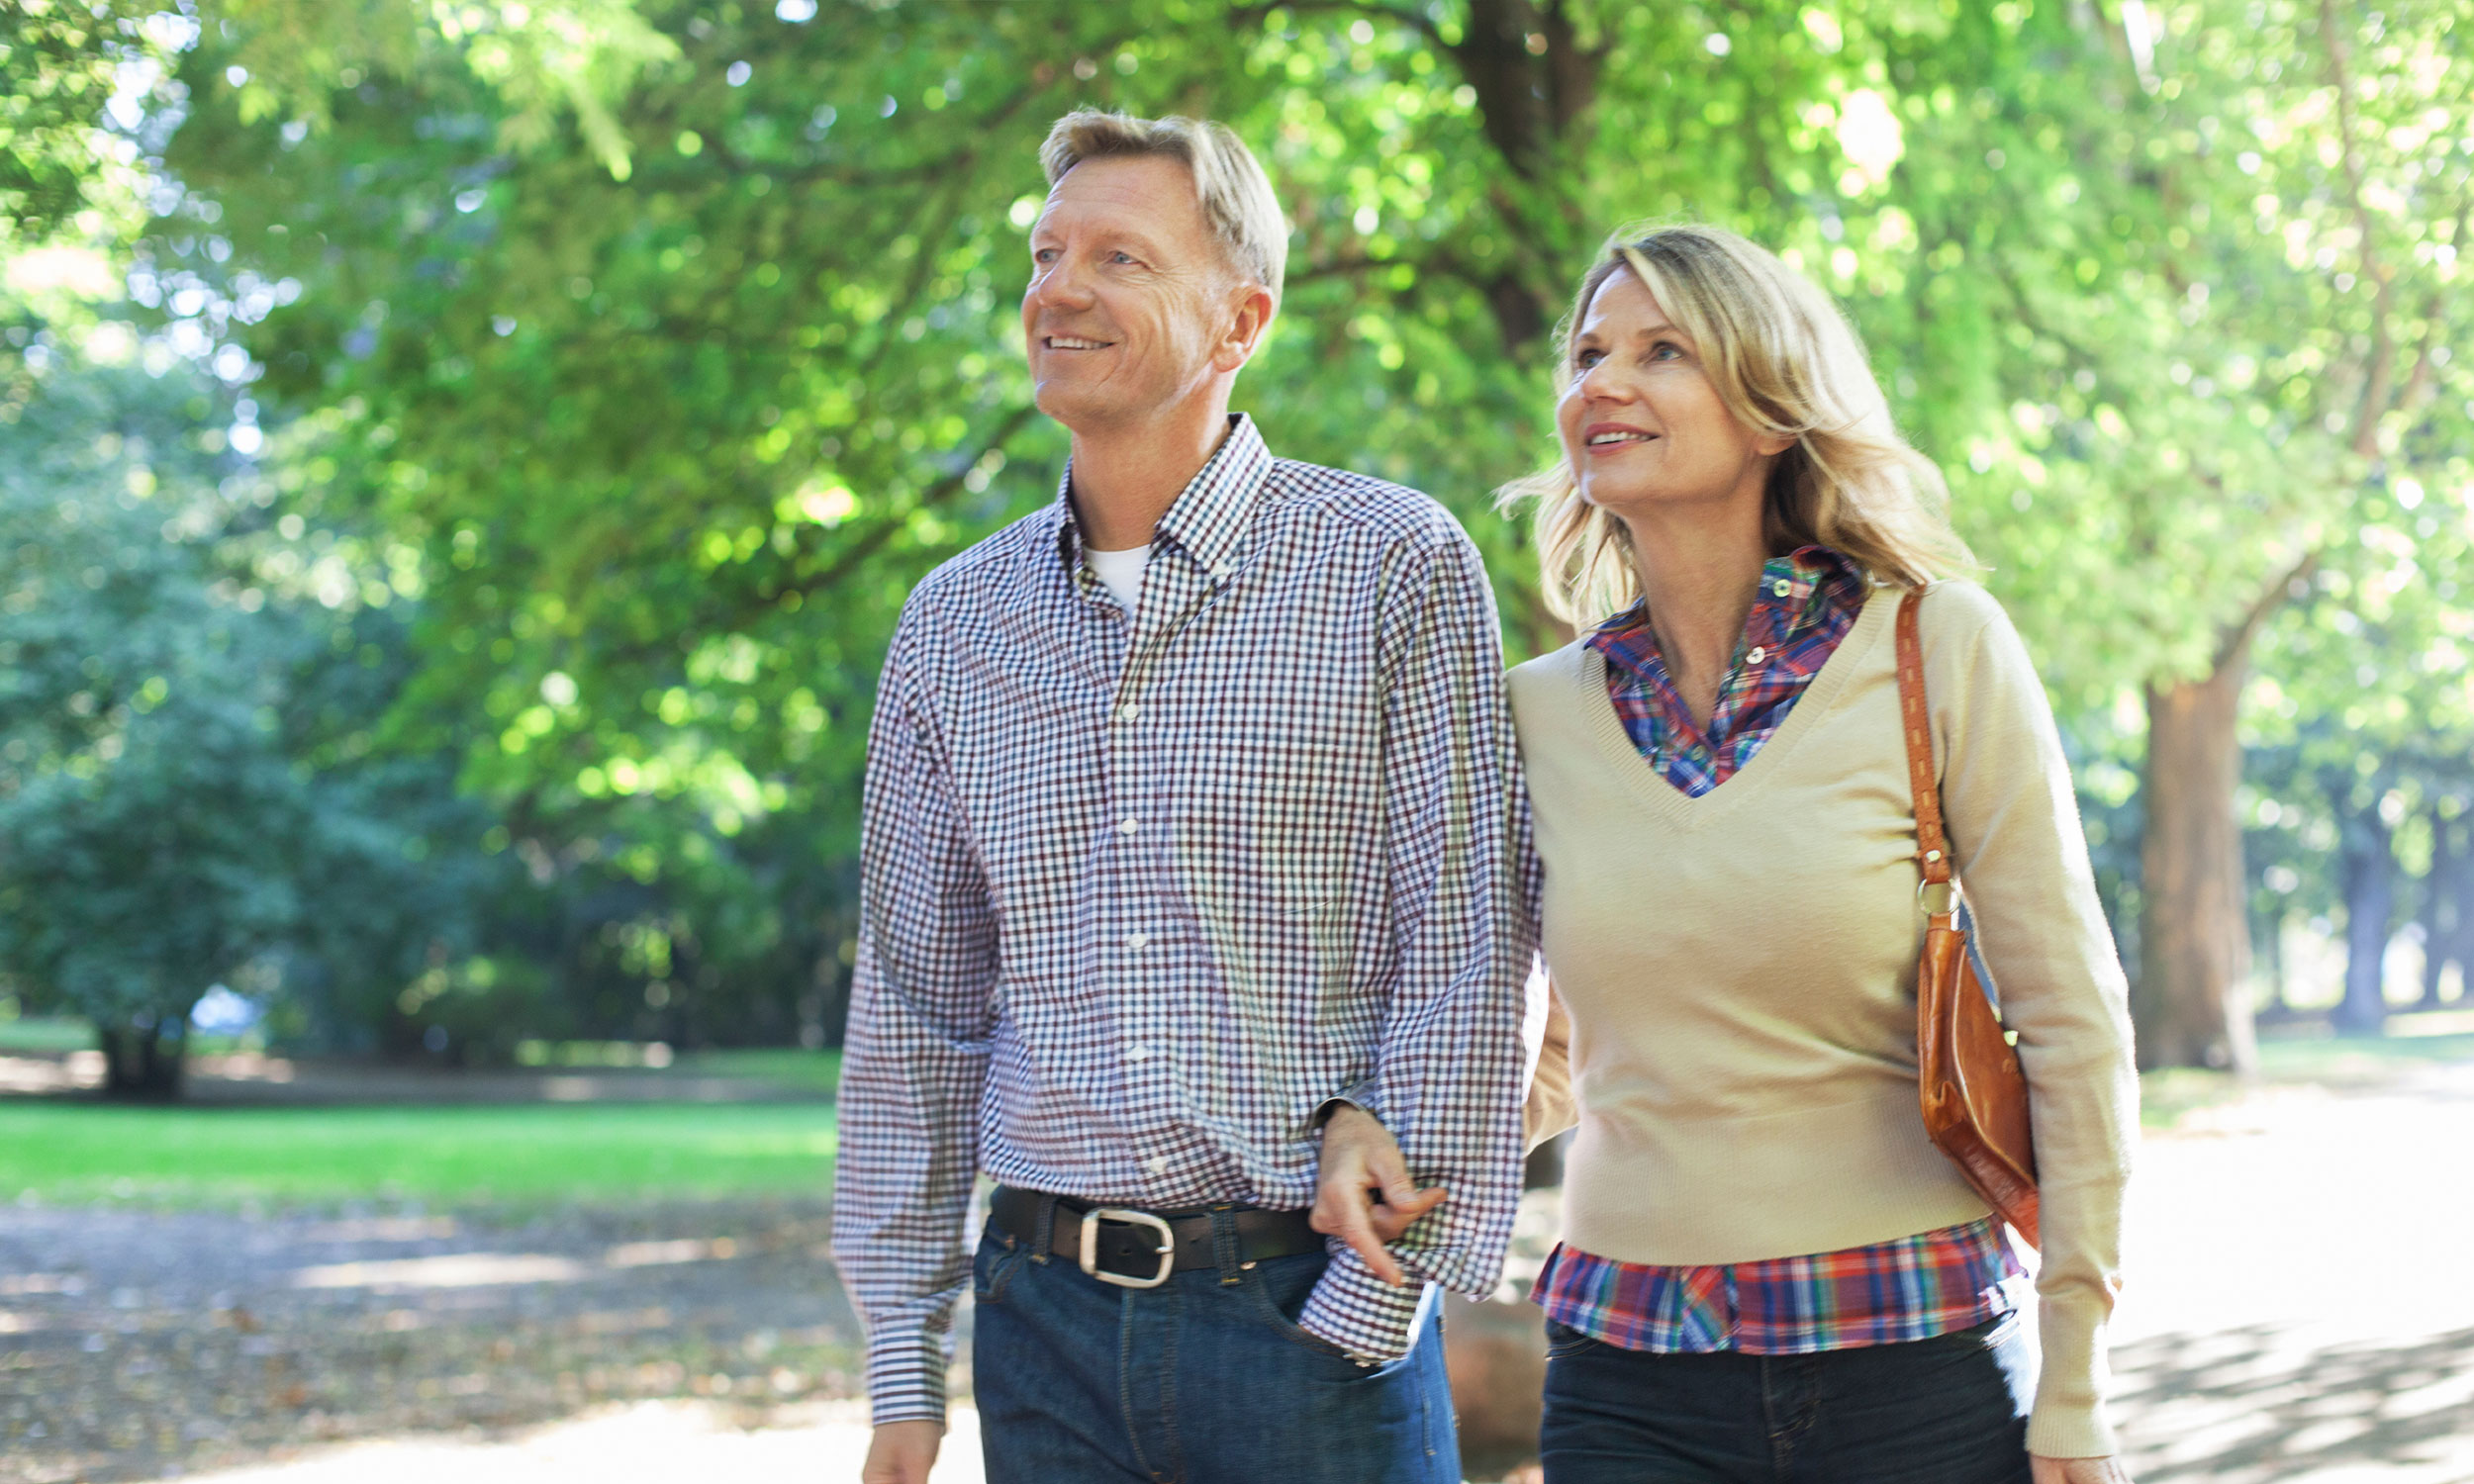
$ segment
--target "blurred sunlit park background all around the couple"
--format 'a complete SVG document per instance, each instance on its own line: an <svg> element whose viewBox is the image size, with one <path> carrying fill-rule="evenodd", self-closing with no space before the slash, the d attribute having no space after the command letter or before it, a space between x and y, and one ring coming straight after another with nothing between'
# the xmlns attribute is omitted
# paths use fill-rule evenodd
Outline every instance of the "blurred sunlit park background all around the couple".
<svg viewBox="0 0 2474 1484"><path fill-rule="evenodd" d="M0 1482L856 1469L863 735L1054 497L1079 104L1262 153L1239 406L1514 660L1606 232L1823 282L2130 967L2142 1477L2474 1479L2467 0L5 0L0 84Z"/></svg>

